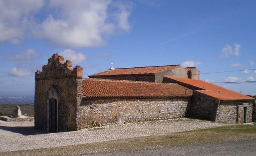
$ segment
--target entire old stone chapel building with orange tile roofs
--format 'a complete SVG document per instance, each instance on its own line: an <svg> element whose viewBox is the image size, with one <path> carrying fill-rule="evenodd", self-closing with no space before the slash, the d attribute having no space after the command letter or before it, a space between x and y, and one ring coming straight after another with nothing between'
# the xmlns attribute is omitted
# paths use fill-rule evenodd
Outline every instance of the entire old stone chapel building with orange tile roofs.
<svg viewBox="0 0 256 156"><path fill-rule="evenodd" d="M216 85L204 84L204 90L196 85L204 81L197 80L200 71L195 67L110 69L83 78L81 66L73 68L69 60L52 55L42 71L35 73L35 128L76 131L95 125L190 116L232 123L255 119L255 99L230 91L237 99L228 101L226 97L234 97L226 89L220 90L217 98L212 93L218 92L213 89ZM197 77L191 79L189 71ZM188 80L193 80L192 84Z"/></svg>

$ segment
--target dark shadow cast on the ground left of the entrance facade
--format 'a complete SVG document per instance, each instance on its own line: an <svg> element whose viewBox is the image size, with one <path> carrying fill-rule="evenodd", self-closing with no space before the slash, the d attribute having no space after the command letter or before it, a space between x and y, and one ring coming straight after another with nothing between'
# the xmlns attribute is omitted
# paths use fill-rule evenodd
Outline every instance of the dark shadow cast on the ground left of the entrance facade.
<svg viewBox="0 0 256 156"><path fill-rule="evenodd" d="M38 129L34 129L33 126L30 127L7 127L7 126L0 126L0 129L4 131L10 131L13 133L20 133L22 135L40 135L49 133L47 131L42 131Z"/></svg>

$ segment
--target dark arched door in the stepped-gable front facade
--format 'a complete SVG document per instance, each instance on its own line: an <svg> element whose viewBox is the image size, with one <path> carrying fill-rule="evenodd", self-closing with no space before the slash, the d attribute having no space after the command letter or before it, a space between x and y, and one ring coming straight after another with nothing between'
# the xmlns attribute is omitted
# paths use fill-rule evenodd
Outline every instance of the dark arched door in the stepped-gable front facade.
<svg viewBox="0 0 256 156"><path fill-rule="evenodd" d="M57 108L57 99L50 99L50 102L49 102L49 115L50 115L50 118L49 118L49 121L50 121L50 124L49 124L49 131L51 132L57 132L57 120L58 120L58 108Z"/></svg>

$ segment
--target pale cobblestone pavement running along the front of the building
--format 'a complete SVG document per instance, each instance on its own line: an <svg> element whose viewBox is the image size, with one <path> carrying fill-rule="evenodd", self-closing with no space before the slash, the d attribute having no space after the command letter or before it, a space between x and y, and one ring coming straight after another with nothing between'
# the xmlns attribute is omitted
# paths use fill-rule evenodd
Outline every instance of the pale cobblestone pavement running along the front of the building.
<svg viewBox="0 0 256 156"><path fill-rule="evenodd" d="M45 131L34 130L34 122L0 121L0 152L103 142L138 136L165 135L226 125L230 124L184 118L127 123L106 126L103 129L46 133Z"/></svg>

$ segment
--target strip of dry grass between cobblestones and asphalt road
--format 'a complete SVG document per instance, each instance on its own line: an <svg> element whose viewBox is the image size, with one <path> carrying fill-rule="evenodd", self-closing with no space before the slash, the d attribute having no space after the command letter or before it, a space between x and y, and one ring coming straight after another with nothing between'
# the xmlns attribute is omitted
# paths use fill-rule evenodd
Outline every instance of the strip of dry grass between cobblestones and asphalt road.
<svg viewBox="0 0 256 156"><path fill-rule="evenodd" d="M256 124L234 125L227 127L216 127L200 129L168 135L142 136L112 140L106 142L95 142L90 144L79 144L62 146L56 148L43 148L36 150L20 150L14 152L2 152L1 156L22 156L22 155L69 155L86 154L98 152L117 152L142 150L152 148L166 148L172 146L190 146L199 144L213 144L224 142L237 142L242 140L256 139Z"/></svg>

